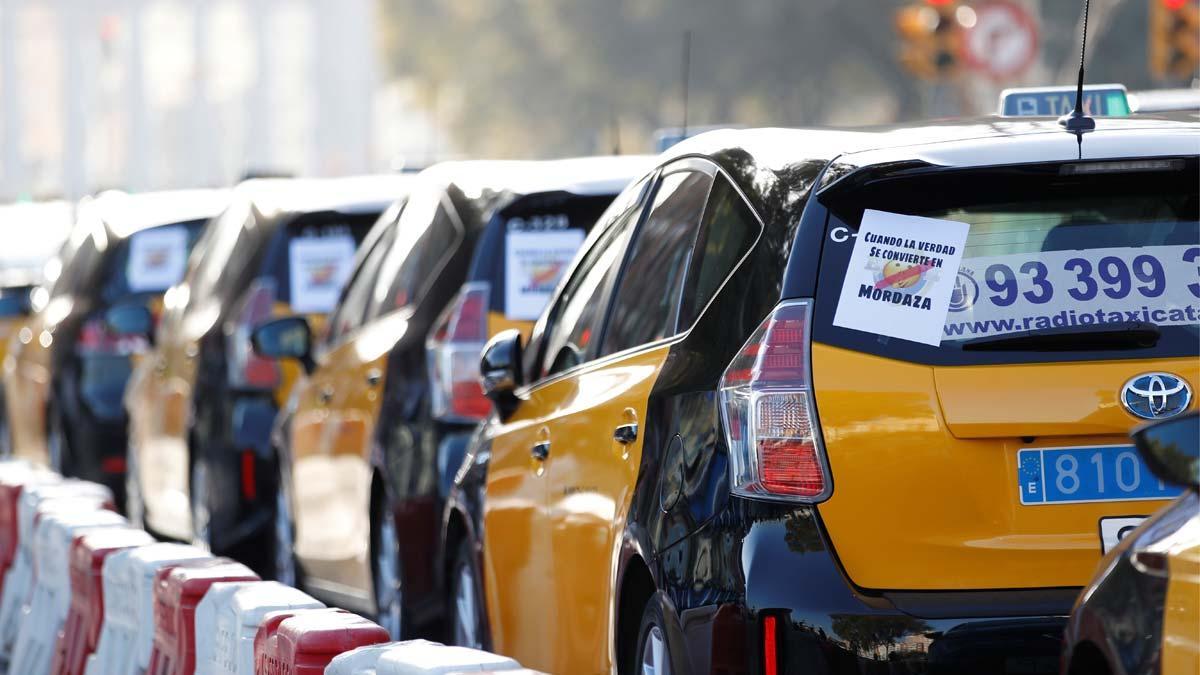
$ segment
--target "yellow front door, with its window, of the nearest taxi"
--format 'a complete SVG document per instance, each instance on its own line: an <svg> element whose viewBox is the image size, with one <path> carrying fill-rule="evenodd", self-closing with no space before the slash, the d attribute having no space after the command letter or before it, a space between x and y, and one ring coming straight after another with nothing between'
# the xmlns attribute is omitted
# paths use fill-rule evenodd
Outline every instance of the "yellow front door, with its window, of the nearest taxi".
<svg viewBox="0 0 1200 675"><path fill-rule="evenodd" d="M484 587L492 641L500 653L542 670L571 671L562 668L572 645L558 644L569 632L559 614L564 608L572 611L563 598L578 578L578 571L563 568L564 551L556 550L563 538L553 531L551 509L559 495L552 494L548 472L560 453L571 456L576 443L569 437L572 430L563 435L556 425L578 411L578 372L596 352L605 299L641 211L642 187L618 197L593 228L544 323L534 329L530 348L536 356L528 374L534 383L520 393L506 419L493 420L485 431L492 458L484 504ZM577 557L575 551L565 556ZM588 569L598 566L590 561ZM599 578L587 583L606 586Z"/></svg>

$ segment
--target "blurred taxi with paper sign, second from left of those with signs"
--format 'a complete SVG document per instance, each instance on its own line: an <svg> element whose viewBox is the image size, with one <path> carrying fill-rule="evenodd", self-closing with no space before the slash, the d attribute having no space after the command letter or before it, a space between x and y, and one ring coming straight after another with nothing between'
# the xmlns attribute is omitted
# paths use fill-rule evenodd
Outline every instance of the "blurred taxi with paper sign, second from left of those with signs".
<svg viewBox="0 0 1200 675"><path fill-rule="evenodd" d="M259 554L276 486L271 422L299 368L258 357L251 331L292 313L319 323L359 244L407 183L257 179L233 190L164 295L154 351L125 396L132 520L265 565ZM151 322L120 306L109 323L139 335Z"/></svg>

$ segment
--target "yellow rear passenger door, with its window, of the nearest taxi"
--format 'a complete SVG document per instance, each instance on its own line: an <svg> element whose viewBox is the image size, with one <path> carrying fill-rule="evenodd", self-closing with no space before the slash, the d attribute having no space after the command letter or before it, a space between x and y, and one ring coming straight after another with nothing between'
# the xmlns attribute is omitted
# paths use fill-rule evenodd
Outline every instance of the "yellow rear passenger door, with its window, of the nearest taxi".
<svg viewBox="0 0 1200 675"><path fill-rule="evenodd" d="M599 360L552 384L560 407L547 460L558 635L556 673L612 664L613 597L626 514L642 456L647 404L670 352L713 177L667 167L612 292ZM618 265L613 265L616 269Z"/></svg>

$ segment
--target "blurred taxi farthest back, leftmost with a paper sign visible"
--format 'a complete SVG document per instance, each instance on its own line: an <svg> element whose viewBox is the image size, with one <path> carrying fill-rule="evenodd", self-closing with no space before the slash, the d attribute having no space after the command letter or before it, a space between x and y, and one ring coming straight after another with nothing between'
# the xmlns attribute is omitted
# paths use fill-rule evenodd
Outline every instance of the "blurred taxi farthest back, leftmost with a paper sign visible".
<svg viewBox="0 0 1200 675"><path fill-rule="evenodd" d="M32 293L32 313L5 360L13 450L66 474L104 483L121 502L126 417L121 396L148 347L118 335L104 316L116 305L156 312L179 281L222 190L103 192L80 203L76 223Z"/></svg>

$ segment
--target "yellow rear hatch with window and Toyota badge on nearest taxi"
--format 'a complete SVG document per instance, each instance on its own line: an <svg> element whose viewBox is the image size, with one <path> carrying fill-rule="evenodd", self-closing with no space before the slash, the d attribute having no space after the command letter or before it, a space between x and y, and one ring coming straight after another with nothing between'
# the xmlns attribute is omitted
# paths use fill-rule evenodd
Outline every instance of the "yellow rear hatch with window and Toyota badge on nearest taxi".
<svg viewBox="0 0 1200 675"><path fill-rule="evenodd" d="M1102 534L1128 524L1106 519L1178 494L1128 432L1145 422L1130 408L1194 406L1198 185L1190 156L889 167L821 196L812 369L834 490L818 509L858 586L1082 586ZM940 341L835 324L868 209L968 223L956 275L934 269L953 279L944 324L919 301L901 322L932 321ZM898 222L924 237L922 221ZM881 269L880 283L910 265Z"/></svg>

